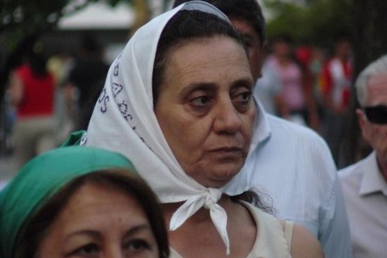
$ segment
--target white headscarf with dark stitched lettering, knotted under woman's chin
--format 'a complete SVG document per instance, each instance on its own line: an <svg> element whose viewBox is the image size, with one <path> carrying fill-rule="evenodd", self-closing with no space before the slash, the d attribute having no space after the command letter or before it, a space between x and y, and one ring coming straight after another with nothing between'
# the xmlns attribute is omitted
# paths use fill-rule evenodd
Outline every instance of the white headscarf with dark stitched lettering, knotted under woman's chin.
<svg viewBox="0 0 387 258"><path fill-rule="evenodd" d="M184 202L173 213L170 230L180 227L201 207L210 209L212 222L229 254L227 215L216 202L222 193L238 195L250 188L246 168L222 188L202 186L182 170L153 111L152 72L157 43L164 26L179 10L201 10L228 21L209 3L191 1L155 17L136 31L109 69L81 144L124 154L161 202ZM253 137L250 150L256 147L259 137Z"/></svg>

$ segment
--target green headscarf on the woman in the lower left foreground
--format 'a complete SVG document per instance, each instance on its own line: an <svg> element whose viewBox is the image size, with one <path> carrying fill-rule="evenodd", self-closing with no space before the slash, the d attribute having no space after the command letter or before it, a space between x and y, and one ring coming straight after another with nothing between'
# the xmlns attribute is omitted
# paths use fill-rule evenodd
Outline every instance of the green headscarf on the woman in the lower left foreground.
<svg viewBox="0 0 387 258"><path fill-rule="evenodd" d="M26 163L0 193L0 257L13 257L24 221L65 184L109 168L134 171L132 163L121 154L93 147L62 147Z"/></svg>

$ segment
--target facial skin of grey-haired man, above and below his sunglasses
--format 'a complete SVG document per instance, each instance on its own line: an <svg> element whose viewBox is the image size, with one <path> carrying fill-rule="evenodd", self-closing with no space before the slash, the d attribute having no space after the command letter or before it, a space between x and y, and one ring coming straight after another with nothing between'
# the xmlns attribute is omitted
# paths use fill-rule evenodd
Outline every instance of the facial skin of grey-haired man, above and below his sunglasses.
<svg viewBox="0 0 387 258"><path fill-rule="evenodd" d="M364 106L387 105L387 72L371 76ZM362 109L356 110L363 138L377 153L379 168L387 181L387 124L373 124Z"/></svg>

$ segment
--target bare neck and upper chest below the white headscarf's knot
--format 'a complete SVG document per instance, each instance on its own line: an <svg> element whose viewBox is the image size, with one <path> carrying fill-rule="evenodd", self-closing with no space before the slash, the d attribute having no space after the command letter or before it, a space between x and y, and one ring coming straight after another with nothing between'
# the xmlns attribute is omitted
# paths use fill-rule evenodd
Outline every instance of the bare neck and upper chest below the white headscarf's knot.
<svg viewBox="0 0 387 258"><path fill-rule="evenodd" d="M182 204L162 204L167 225ZM202 207L179 228L168 232L171 247L182 257L246 257L253 248L257 227L251 213L228 195L222 195L217 204L227 213L230 256L226 256L226 246L212 222L210 211Z"/></svg>

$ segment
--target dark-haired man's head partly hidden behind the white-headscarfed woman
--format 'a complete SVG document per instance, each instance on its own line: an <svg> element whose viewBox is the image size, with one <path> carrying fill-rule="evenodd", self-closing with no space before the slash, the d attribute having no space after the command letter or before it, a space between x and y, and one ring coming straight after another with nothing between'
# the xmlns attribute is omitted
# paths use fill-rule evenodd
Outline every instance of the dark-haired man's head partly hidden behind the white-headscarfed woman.
<svg viewBox="0 0 387 258"><path fill-rule="evenodd" d="M251 74L256 81L261 76L266 49L265 22L256 0L204 0L219 8L228 16L241 35L250 61ZM175 0L173 7L188 0Z"/></svg>

